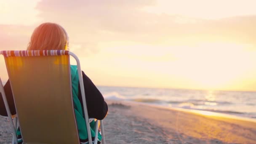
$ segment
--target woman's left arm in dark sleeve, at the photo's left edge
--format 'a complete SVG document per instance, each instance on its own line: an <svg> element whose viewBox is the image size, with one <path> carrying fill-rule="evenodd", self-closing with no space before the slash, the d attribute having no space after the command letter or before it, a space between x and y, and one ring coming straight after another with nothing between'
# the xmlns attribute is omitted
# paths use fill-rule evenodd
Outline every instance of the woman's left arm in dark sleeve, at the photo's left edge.
<svg viewBox="0 0 256 144"><path fill-rule="evenodd" d="M11 84L9 80L5 83L4 90L5 90L6 99L11 111L11 115L15 115L16 109L15 109L15 104L13 100L13 93L11 91ZM0 115L8 116L5 109L5 104L3 102L2 93L0 93Z"/></svg>

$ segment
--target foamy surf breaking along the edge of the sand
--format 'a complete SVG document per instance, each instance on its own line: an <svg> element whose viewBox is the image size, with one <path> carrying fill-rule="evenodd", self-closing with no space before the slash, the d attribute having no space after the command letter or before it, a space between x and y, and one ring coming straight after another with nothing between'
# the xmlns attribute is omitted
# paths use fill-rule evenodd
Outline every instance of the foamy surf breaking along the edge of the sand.
<svg viewBox="0 0 256 144"><path fill-rule="evenodd" d="M239 112L235 110L225 110L219 109L218 106L225 107L232 107L234 103L229 101L209 101L209 100L200 100L200 99L188 99L188 100L181 100L181 101L168 101L160 98L146 98L143 96L123 96L120 95L118 92L113 91L110 93L104 94L105 99L110 100L126 100L126 101L136 101L148 104L157 104L162 105L165 107L173 107L173 108L182 108L182 109L192 109L192 110L200 110L200 111L208 111L208 112L217 112L223 114L230 114L230 115L239 115L243 117L251 117L256 118L256 113L253 112ZM254 106L253 103L246 103L246 105ZM235 107L235 105L234 105Z"/></svg>

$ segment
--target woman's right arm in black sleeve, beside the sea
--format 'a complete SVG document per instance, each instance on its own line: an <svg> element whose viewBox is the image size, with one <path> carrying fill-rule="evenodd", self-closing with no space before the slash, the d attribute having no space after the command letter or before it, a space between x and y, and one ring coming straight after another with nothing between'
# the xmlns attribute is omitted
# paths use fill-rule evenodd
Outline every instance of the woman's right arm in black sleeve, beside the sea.
<svg viewBox="0 0 256 144"><path fill-rule="evenodd" d="M102 120L107 116L107 103L104 101L101 92L98 90L98 88L96 88L90 78L87 77L83 71L82 74L88 115L91 118ZM78 99L80 100L83 107L80 85L78 86Z"/></svg>

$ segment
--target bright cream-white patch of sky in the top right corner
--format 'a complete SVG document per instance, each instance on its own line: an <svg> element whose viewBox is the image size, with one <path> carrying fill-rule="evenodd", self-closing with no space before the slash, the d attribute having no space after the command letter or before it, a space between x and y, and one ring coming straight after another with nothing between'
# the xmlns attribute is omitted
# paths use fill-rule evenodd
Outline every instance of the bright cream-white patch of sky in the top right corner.
<svg viewBox="0 0 256 144"><path fill-rule="evenodd" d="M168 13L200 19L255 15L255 0L157 0L144 8L151 13Z"/></svg>

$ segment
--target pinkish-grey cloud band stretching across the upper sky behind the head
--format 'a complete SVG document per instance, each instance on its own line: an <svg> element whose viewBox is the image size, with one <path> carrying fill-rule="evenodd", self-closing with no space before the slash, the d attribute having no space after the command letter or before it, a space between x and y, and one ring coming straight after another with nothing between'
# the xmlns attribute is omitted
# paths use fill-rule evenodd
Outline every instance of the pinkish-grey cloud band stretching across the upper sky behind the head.
<svg viewBox="0 0 256 144"><path fill-rule="evenodd" d="M99 45L117 41L165 47L202 42L256 44L256 16L205 20L144 10L156 4L156 0L41 0L35 11L40 23L61 24L69 33L70 43L79 45L74 49L81 55L97 53ZM2 25L1 42L6 48L26 47L32 29L40 23L11 28Z"/></svg>

